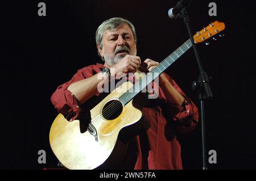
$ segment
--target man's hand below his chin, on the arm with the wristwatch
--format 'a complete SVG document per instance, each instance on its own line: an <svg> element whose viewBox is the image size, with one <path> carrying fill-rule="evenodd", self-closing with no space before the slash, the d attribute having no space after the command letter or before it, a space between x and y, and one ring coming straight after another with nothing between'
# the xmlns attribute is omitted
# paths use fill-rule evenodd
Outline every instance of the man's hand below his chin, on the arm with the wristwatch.
<svg viewBox="0 0 256 181"><path fill-rule="evenodd" d="M119 77L120 74L135 73L139 69L139 65L141 65L140 57L127 54L110 68L110 74Z"/></svg>

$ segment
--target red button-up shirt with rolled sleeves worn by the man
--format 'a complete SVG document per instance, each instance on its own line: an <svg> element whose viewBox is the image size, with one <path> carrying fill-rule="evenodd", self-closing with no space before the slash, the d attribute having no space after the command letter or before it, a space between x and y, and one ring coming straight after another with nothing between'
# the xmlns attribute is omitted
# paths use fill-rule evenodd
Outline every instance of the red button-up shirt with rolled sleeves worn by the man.
<svg viewBox="0 0 256 181"><path fill-rule="evenodd" d="M75 96L67 90L71 83L91 77L103 68L102 64L86 66L78 70L70 81L57 87L51 96L51 101L56 110L67 120L90 118L89 110L105 98L105 93L97 93L84 104L79 105ZM137 126L138 132L134 131L133 125L127 127L124 132L125 134L135 132L135 135L129 140L129 144L126 144L129 146L125 148L125 158L122 159L122 166L118 168L182 169L181 148L176 133L192 131L199 115L195 104L169 75L165 75L172 86L184 96L183 105L175 106L168 103L164 92L159 87L158 98L149 99L146 106L142 108L144 122Z"/></svg>

